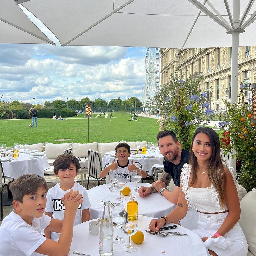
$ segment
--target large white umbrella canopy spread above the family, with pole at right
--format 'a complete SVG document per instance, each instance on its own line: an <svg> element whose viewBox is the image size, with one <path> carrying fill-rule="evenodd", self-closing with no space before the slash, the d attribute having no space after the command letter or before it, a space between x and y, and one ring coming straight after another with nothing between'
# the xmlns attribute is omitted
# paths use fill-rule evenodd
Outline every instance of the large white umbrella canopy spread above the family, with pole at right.
<svg viewBox="0 0 256 256"><path fill-rule="evenodd" d="M241 1L241 18L248 1ZM231 36L226 32L232 28L232 25L225 2L232 14L233 1L17 0L16 2L24 2L22 5L54 33L62 46L98 45L179 49L231 46ZM199 12L200 4L207 8L209 14L211 13L210 16L205 12ZM256 6L252 6L246 18L251 17L255 10ZM220 23L217 23L213 17ZM194 22L195 26L189 34ZM240 46L255 45L255 31L255 25L250 24L240 35ZM189 37L186 40L188 34Z"/></svg>

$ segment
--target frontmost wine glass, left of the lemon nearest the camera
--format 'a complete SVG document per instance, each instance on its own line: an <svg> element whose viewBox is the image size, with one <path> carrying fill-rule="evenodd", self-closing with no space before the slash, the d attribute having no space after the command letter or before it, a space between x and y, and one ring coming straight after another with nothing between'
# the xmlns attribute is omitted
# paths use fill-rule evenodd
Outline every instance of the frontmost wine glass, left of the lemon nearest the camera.
<svg viewBox="0 0 256 256"><path fill-rule="evenodd" d="M137 247L131 244L131 236L133 236L138 230L138 216L135 211L126 211L123 216L123 231L129 236L129 244L123 247L125 252L135 252Z"/></svg>

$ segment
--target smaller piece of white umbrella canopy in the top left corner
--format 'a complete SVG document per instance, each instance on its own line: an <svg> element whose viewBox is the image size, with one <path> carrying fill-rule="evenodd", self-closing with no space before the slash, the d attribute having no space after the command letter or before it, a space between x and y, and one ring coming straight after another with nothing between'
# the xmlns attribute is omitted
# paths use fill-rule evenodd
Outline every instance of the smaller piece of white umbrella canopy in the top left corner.
<svg viewBox="0 0 256 256"><path fill-rule="evenodd" d="M55 45L14 1L0 1L0 43Z"/></svg>

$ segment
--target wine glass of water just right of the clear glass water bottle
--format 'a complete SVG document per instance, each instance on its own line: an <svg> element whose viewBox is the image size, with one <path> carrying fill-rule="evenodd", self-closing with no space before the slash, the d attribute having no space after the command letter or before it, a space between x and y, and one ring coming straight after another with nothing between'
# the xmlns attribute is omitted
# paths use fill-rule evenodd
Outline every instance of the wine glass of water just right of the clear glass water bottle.
<svg viewBox="0 0 256 256"><path fill-rule="evenodd" d="M125 239L119 236L119 229L123 224L123 215L124 215L124 206L123 205L114 205L111 211L111 219L113 226L117 228L117 236L114 237L114 243L123 243Z"/></svg>

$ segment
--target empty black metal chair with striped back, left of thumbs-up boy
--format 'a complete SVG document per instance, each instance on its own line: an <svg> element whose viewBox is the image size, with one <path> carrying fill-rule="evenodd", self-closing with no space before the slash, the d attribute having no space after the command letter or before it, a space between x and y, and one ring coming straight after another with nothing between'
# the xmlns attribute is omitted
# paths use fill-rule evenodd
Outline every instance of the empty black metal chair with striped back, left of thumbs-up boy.
<svg viewBox="0 0 256 256"><path fill-rule="evenodd" d="M94 150L88 150L88 182L87 182L87 190L89 188L89 179L93 177L98 181L98 186L100 185L101 180L104 179L104 184L106 184L106 177L99 178L100 172L102 171L101 167L101 153Z"/></svg>

